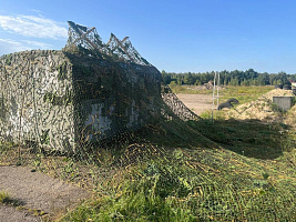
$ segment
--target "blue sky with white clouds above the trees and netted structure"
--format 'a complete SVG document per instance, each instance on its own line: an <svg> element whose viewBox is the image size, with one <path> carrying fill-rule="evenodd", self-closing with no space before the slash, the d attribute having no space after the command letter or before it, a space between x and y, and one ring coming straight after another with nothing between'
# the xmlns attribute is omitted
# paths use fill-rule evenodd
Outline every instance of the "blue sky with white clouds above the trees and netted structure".
<svg viewBox="0 0 296 222"><path fill-rule="evenodd" d="M129 36L160 71L296 73L292 0L0 0L0 56L61 49L68 20Z"/></svg>

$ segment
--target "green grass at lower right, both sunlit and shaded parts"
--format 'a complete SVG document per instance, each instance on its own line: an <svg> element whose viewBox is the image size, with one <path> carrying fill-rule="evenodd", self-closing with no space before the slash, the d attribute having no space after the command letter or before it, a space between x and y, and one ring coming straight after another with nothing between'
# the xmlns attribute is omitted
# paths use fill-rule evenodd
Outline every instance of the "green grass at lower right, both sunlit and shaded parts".
<svg viewBox="0 0 296 222"><path fill-rule="evenodd" d="M111 188L99 189L98 196L61 221L296 219L296 151L294 144L284 145L290 138L279 133L280 124L191 121L172 125L159 125L165 131L162 135L143 133L162 145L159 158L118 168L108 182ZM208 143L198 147L196 140L203 143L203 137Z"/></svg>

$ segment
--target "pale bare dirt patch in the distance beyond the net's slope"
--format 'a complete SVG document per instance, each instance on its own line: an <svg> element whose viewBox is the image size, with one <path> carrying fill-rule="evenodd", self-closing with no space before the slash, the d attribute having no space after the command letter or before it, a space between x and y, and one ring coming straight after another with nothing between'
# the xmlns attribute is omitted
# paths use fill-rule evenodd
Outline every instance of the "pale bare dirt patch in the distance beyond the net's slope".
<svg viewBox="0 0 296 222"><path fill-rule="evenodd" d="M210 94L176 94L176 97L193 112L201 114L212 109L213 95Z"/></svg>

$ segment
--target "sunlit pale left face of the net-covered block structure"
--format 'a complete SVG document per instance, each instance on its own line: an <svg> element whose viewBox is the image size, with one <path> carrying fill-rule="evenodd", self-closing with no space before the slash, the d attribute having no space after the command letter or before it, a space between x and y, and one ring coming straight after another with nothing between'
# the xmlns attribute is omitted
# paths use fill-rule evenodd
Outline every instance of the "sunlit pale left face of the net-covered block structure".
<svg viewBox="0 0 296 222"><path fill-rule="evenodd" d="M74 147L70 60L61 51L0 58L0 135L62 150Z"/></svg>

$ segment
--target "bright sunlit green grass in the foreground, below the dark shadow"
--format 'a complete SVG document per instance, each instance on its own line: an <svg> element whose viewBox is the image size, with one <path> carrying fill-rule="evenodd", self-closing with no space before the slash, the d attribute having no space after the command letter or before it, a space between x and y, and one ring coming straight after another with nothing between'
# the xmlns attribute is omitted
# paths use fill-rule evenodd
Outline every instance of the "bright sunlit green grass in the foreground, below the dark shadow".
<svg viewBox="0 0 296 222"><path fill-rule="evenodd" d="M213 164L191 159L198 157L194 151L178 152L183 153L182 158L178 153L169 162L154 161L133 167L134 173L126 172L122 179L123 183L115 189L113 195L85 202L61 221L290 221L295 219L295 190L290 190L292 185L276 184L273 179L263 176L259 165L252 170L255 176L248 176L239 164L226 164L215 169ZM208 158L216 162L223 157L217 154L215 158L211 155ZM256 164L247 163L245 158L241 163L245 163L248 170L254 167L252 164ZM237 174L238 172L242 175Z"/></svg>

